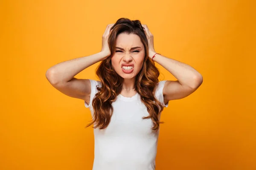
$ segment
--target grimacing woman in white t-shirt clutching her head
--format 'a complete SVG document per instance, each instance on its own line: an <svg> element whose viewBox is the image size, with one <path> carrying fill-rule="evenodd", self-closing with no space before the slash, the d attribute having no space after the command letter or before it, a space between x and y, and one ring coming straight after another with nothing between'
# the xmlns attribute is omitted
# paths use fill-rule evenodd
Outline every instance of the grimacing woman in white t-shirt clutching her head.
<svg viewBox="0 0 256 170"><path fill-rule="evenodd" d="M99 81L74 78L99 61ZM159 82L154 62L177 81ZM93 170L154 170L163 107L192 94L203 81L191 66L156 53L148 27L127 18L107 26L99 53L54 65L46 76L58 91L90 108Z"/></svg>

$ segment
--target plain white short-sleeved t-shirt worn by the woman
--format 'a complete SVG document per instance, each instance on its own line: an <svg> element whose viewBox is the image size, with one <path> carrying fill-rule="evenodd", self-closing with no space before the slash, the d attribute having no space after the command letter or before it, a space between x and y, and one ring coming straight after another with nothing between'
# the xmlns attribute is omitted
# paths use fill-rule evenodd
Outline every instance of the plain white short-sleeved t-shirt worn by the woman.
<svg viewBox="0 0 256 170"><path fill-rule="evenodd" d="M90 108L93 116L92 101L98 92L96 85L100 81L91 80ZM166 80L157 84L156 98L164 107L163 86ZM157 141L159 130L152 131L151 119L146 106L140 101L137 93L132 97L119 94L113 105L111 122L105 129L94 129L94 162L93 170L155 170ZM160 115L159 115L160 118Z"/></svg>

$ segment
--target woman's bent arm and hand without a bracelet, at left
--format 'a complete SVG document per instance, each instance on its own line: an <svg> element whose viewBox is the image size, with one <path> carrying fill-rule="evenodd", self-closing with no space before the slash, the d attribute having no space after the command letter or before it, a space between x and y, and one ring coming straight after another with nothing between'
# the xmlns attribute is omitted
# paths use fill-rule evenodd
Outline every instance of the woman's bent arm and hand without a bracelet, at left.
<svg viewBox="0 0 256 170"><path fill-rule="evenodd" d="M76 79L74 76L90 65L106 59L110 54L108 36L113 24L109 24L102 36L102 50L99 53L71 59L58 63L46 72L46 78L51 85L67 96L90 101L91 85L89 79Z"/></svg>

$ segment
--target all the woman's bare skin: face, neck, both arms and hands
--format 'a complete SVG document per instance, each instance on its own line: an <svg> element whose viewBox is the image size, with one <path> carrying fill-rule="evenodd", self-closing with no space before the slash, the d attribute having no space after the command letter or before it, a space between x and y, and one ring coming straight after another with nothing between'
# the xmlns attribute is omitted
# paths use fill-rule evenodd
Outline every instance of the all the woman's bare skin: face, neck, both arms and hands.
<svg viewBox="0 0 256 170"><path fill-rule="evenodd" d="M109 24L102 36L102 50L97 53L86 57L79 57L70 61L58 63L47 70L46 77L48 81L56 88L67 96L82 99L90 102L90 81L89 79L77 79L74 76L85 68L93 65L102 59L108 58L111 54L110 48L108 47L108 36L111 33L111 28L114 24ZM144 31L148 39L148 57L152 57L156 54L154 51L154 37L149 31L147 25L142 24ZM131 89L134 88L135 77L142 68L142 62L145 57L144 47L140 50L140 53L128 53L131 47L143 46L142 42L137 35L125 35L120 34L117 39L118 46L124 48L122 51L125 55L117 55L116 52L112 57L112 64L116 72L124 78L123 88ZM134 50L135 51L135 50ZM125 53L127 52L127 53ZM129 56L128 54L131 54ZM192 94L202 84L203 77L190 65L183 62L179 62L175 59L165 57L161 54L156 54L154 62L157 62L169 73L171 73L177 80L167 80L163 87L164 102L167 103L170 100L182 99ZM84 64L82 64L84 63ZM132 74L124 74L122 72L122 63L133 63L134 72ZM73 67L76 65L76 67ZM125 96L133 96L134 91L129 91L126 94L121 92Z"/></svg>

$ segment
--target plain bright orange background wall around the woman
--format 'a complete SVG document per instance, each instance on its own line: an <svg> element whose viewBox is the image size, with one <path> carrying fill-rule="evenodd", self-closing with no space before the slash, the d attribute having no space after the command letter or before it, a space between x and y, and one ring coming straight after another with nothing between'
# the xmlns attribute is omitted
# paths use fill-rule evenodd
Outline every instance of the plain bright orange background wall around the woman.
<svg viewBox="0 0 256 170"><path fill-rule="evenodd" d="M95 54L120 17L140 20L155 50L191 65L204 82L169 102L157 170L256 169L253 0L2 0L0 170L91 170L93 129L84 101L45 77L59 62ZM96 79L90 66L77 78ZM175 80L160 65L160 80Z"/></svg>

